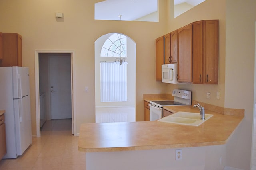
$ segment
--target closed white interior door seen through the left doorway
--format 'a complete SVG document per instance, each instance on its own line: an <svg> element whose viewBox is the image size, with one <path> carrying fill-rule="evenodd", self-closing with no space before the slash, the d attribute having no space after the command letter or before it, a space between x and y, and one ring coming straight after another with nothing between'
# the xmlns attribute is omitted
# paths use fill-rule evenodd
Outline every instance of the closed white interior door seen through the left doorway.
<svg viewBox="0 0 256 170"><path fill-rule="evenodd" d="M70 57L49 57L52 119L71 119Z"/></svg>

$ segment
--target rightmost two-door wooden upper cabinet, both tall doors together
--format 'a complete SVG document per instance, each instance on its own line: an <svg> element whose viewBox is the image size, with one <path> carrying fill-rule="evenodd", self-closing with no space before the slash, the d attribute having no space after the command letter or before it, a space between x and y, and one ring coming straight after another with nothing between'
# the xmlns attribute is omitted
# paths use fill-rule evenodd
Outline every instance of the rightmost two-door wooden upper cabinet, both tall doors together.
<svg viewBox="0 0 256 170"><path fill-rule="evenodd" d="M193 83L218 84L218 20L193 23Z"/></svg>

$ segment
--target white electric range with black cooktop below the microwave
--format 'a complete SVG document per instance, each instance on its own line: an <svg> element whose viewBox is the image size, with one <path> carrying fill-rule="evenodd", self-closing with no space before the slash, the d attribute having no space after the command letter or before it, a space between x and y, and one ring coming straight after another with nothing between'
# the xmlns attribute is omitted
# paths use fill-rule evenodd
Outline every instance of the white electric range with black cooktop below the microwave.
<svg viewBox="0 0 256 170"><path fill-rule="evenodd" d="M191 105L191 92L187 90L174 89L172 91L174 100L150 101L150 121L163 117L163 107L173 105Z"/></svg>

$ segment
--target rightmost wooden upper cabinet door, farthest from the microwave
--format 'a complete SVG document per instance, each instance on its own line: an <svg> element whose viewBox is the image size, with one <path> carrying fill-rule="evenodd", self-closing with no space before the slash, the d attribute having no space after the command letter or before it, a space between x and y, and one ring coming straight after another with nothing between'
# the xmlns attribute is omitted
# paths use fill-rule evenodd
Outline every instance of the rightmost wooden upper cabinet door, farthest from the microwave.
<svg viewBox="0 0 256 170"><path fill-rule="evenodd" d="M219 24L218 20L206 20L204 24L204 84L218 84Z"/></svg>

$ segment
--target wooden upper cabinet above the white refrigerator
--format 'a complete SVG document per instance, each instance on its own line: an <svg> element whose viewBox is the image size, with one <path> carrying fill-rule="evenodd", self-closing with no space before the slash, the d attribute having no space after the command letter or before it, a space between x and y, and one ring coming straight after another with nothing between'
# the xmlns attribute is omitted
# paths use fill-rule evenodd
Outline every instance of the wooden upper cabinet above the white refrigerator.
<svg viewBox="0 0 256 170"><path fill-rule="evenodd" d="M18 33L3 34L3 59L0 66L22 66L22 36Z"/></svg>

